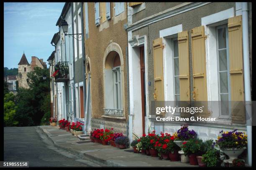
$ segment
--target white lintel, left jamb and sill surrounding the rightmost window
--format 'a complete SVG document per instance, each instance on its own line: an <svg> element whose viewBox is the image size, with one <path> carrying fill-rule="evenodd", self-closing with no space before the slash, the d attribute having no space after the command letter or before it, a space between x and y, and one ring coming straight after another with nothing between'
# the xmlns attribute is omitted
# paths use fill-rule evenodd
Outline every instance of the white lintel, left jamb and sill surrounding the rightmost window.
<svg viewBox="0 0 256 170"><path fill-rule="evenodd" d="M227 10L214 13L212 15L201 18L201 23L205 26L205 54L206 54L206 77L207 77L207 100L219 101L219 93L216 93L218 87L218 61L216 47L216 26L227 24L228 18L234 17L234 7ZM216 104L208 105L208 110L211 110L212 117L219 117L220 110ZM219 119L216 121L229 123L230 120Z"/></svg>

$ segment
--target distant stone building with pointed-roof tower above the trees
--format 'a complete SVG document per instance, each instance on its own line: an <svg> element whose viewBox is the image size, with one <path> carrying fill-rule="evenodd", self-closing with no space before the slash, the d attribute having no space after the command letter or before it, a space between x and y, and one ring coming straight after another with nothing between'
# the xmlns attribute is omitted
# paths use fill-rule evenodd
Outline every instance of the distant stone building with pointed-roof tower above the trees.
<svg viewBox="0 0 256 170"><path fill-rule="evenodd" d="M34 70L34 67L46 68L46 62L43 59L32 56L31 63L28 63L25 53L23 53L20 62L18 63L18 83L19 87L28 88L28 76L27 73Z"/></svg>

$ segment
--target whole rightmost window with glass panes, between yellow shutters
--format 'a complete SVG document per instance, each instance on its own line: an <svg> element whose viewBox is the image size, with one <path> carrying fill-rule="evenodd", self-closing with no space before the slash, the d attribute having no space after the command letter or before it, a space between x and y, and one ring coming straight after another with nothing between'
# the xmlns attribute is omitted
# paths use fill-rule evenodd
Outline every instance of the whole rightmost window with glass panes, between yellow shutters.
<svg viewBox="0 0 256 170"><path fill-rule="evenodd" d="M228 59L228 28L227 25L216 27L217 60L218 60L218 85L220 117L229 118L230 107L230 78L229 78L229 59Z"/></svg>

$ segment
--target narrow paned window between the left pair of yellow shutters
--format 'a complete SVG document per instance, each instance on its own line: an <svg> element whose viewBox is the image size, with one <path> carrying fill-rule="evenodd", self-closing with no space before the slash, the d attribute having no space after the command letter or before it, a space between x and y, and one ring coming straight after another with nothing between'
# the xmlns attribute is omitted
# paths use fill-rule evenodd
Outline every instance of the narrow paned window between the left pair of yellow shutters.
<svg viewBox="0 0 256 170"><path fill-rule="evenodd" d="M174 72L174 100L180 101L179 92L179 49L177 38L172 39L173 72Z"/></svg>

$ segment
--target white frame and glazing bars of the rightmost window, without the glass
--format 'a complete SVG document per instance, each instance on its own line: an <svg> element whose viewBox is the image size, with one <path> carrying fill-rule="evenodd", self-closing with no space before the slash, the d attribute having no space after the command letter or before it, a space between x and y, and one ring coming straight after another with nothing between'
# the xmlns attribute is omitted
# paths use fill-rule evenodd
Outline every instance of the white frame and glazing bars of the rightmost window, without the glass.
<svg viewBox="0 0 256 170"><path fill-rule="evenodd" d="M220 57L219 57L219 40L218 40L218 28L225 28L225 34L226 34L226 54L227 54L227 71L220 71ZM228 25L220 25L220 26L216 26L216 48L217 48L217 64L218 64L218 93L219 93L219 100L221 101L221 97L220 97L220 72L227 72L227 75L228 75L228 100L230 101L231 100L231 94L230 94L230 74L229 74L229 44L228 44ZM224 49L224 48L223 48ZM221 50L223 50L221 49ZM225 93L226 94L226 93ZM220 106L219 106L219 112L220 112L220 115L219 115L219 118L223 118L223 119L231 119L231 106L230 106L230 102L228 102L228 108L229 108L229 111L228 111L228 115L221 115L221 103L220 103Z"/></svg>

